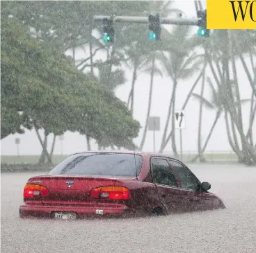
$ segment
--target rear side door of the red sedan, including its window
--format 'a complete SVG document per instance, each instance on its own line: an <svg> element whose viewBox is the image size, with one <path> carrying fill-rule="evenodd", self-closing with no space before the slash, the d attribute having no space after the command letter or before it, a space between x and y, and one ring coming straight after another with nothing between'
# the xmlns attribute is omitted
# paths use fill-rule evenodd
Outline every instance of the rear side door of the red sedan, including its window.
<svg viewBox="0 0 256 253"><path fill-rule="evenodd" d="M152 157L151 161L152 180L157 186L157 193L161 203L168 213L179 209L179 198L177 198L177 182L167 159Z"/></svg>

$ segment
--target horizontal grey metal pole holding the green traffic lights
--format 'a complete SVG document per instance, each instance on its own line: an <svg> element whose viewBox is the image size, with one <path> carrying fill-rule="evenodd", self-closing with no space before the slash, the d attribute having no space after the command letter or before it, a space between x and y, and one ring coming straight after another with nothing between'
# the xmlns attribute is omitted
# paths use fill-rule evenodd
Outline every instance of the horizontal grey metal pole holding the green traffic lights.
<svg viewBox="0 0 256 253"><path fill-rule="evenodd" d="M129 17L129 16L99 16L93 17L94 21L103 21L104 19L113 18L114 23L138 23L148 24L148 17ZM160 18L161 24L172 24L178 26L198 26L199 18L182 18L182 17L162 17Z"/></svg>

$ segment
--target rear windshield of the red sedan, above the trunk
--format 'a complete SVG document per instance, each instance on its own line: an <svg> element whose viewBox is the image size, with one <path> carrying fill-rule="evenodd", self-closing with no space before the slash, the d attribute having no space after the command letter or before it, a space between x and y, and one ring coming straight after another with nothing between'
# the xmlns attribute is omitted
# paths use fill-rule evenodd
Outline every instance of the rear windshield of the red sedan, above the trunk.
<svg viewBox="0 0 256 253"><path fill-rule="evenodd" d="M136 177L143 157L122 153L83 153L67 157L48 175L113 175Z"/></svg>

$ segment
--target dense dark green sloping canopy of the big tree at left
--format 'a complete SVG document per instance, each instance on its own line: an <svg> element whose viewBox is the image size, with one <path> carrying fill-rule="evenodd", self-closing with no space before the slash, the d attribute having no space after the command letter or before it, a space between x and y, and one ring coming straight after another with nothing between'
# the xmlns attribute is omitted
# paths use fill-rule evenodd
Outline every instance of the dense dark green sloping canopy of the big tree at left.
<svg viewBox="0 0 256 253"><path fill-rule="evenodd" d="M109 145L131 143L140 125L112 91L35 40L16 19L2 18L1 24L1 138L22 132L23 125L56 135L79 131Z"/></svg>

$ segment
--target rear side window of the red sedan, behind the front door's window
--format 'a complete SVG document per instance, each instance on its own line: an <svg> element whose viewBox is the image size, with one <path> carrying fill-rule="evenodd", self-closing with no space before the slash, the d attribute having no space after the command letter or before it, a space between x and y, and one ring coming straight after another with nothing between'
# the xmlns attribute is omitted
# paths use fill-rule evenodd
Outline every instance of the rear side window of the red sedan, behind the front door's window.
<svg viewBox="0 0 256 253"><path fill-rule="evenodd" d="M166 159L153 158L151 164L155 184L177 186L175 175Z"/></svg>

